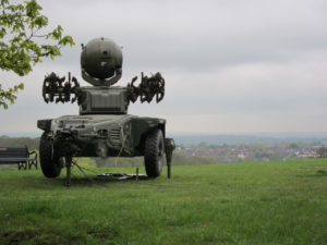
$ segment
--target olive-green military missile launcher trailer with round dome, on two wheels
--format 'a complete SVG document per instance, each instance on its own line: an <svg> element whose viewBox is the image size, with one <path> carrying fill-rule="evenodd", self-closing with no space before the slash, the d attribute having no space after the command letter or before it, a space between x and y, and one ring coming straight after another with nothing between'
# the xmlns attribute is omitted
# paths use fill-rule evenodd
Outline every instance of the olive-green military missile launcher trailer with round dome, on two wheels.
<svg viewBox="0 0 327 245"><path fill-rule="evenodd" d="M71 183L74 157L144 156L146 174L160 175L165 162L170 177L172 138L166 137L166 120L128 114L130 102L160 102L165 79L160 73L135 76L125 87L112 86L122 75L121 48L108 38L96 38L82 45L82 77L93 86L81 87L75 77L68 79L51 73L45 77L44 100L74 102L80 115L38 120L40 166L45 176L57 177L66 167L66 185Z"/></svg>

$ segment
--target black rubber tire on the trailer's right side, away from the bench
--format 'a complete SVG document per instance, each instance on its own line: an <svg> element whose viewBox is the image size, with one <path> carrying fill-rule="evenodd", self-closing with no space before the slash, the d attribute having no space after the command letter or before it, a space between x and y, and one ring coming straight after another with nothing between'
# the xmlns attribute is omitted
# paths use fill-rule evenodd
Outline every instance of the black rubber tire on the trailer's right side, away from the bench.
<svg viewBox="0 0 327 245"><path fill-rule="evenodd" d="M165 163L165 143L162 132L156 128L149 132L145 138L144 164L146 175L160 176Z"/></svg>

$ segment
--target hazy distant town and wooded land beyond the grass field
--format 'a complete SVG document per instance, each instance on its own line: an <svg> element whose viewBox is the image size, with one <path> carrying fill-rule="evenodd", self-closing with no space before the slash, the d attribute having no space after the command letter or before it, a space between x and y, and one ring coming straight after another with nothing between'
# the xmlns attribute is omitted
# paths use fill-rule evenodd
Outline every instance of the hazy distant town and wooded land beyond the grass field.
<svg viewBox="0 0 327 245"><path fill-rule="evenodd" d="M173 164L283 161L327 157L327 135L209 135L177 136ZM201 142L204 140L204 142ZM0 146L38 149L39 137L0 136ZM114 158L94 159L97 167L116 166ZM142 166L143 158L121 159L120 166ZM0 168L1 169L1 168Z"/></svg>

